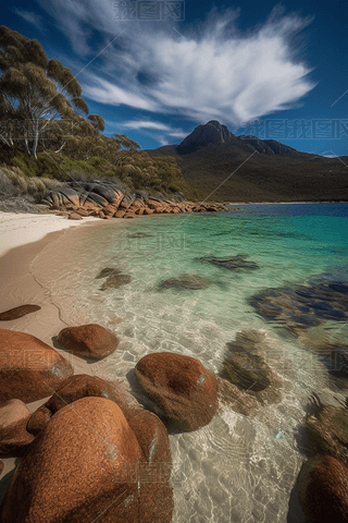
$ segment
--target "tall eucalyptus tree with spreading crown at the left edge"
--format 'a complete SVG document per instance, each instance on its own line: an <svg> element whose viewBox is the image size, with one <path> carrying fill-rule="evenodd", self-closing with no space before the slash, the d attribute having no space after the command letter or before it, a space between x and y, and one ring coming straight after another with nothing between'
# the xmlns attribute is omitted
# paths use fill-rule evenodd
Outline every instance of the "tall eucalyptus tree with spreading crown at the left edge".
<svg viewBox="0 0 348 523"><path fill-rule="evenodd" d="M0 138L24 145L36 157L40 137L60 122L64 132L74 127L88 135L103 130L98 114L90 114L73 72L59 60L49 60L44 47L7 26L0 26ZM13 142L15 139L15 143Z"/></svg>

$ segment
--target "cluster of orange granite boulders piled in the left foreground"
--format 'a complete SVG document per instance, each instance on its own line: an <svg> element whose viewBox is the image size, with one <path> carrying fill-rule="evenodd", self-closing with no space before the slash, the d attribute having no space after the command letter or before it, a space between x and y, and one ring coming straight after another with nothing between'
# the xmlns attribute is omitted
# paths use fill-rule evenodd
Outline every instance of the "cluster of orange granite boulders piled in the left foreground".
<svg viewBox="0 0 348 523"><path fill-rule="evenodd" d="M14 312L22 316L34 308ZM119 345L97 324L64 328L58 341L75 356L94 360ZM213 418L213 373L174 353L140 358L137 387L158 405L158 415L138 403L124 380L74 375L58 351L24 332L0 329L0 457L21 459L0 507L1 522L172 521L166 425L196 430ZM35 412L26 405L46 398Z"/></svg>

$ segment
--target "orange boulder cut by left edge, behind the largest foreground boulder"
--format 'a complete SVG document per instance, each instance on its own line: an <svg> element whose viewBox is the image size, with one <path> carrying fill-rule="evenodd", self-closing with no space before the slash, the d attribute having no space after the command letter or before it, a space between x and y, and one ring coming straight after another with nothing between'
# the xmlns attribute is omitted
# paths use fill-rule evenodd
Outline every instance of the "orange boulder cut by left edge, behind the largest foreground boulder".
<svg viewBox="0 0 348 523"><path fill-rule="evenodd" d="M57 390L74 374L71 364L35 336L0 329L0 398L25 403Z"/></svg>

